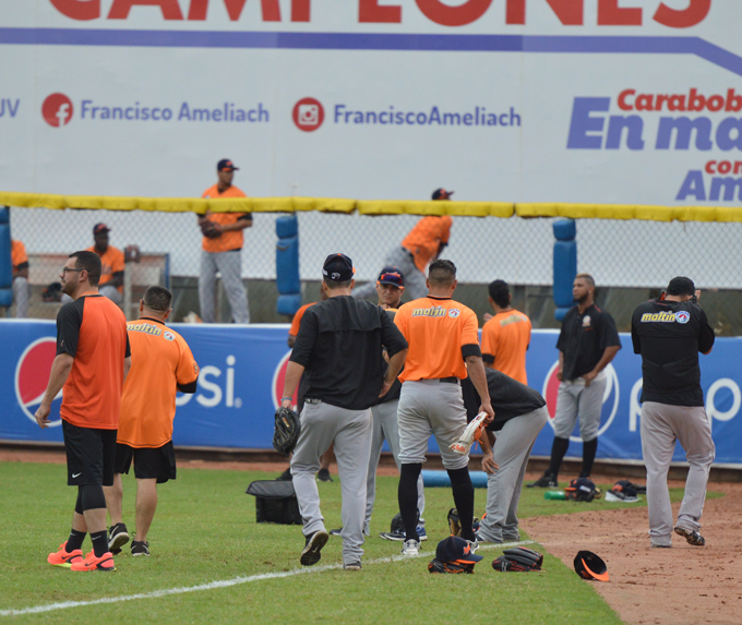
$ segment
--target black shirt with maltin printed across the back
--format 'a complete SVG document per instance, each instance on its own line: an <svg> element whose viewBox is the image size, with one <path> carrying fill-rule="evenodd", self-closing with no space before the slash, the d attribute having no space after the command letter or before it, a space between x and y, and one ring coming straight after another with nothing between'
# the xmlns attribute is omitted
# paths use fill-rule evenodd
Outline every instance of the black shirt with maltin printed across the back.
<svg viewBox="0 0 742 625"><path fill-rule="evenodd" d="M714 347L714 329L703 309L690 301L649 300L631 322L634 353L642 354L642 401L703 406L698 352Z"/></svg>

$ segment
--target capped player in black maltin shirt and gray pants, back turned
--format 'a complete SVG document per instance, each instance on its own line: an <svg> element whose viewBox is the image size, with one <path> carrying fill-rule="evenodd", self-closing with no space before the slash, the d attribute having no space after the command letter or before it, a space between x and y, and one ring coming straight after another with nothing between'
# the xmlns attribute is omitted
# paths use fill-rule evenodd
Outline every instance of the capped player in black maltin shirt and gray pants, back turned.
<svg viewBox="0 0 742 625"><path fill-rule="evenodd" d="M704 409L698 352L711 351L715 335L698 297L693 280L672 278L660 298L641 303L632 316L634 353L642 354L642 454L651 546L672 546L667 477L675 441L691 468L674 531L693 545L706 544L698 530L716 448Z"/></svg>

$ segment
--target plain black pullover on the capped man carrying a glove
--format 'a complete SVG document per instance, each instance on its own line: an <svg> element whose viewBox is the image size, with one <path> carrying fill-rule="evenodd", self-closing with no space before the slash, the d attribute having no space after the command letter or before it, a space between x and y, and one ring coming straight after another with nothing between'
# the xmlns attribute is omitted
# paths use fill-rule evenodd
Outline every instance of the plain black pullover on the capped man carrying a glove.
<svg viewBox="0 0 742 625"><path fill-rule="evenodd" d="M383 309L350 296L309 307L301 320L290 360L306 368L307 398L349 410L379 400L390 357L407 341Z"/></svg>

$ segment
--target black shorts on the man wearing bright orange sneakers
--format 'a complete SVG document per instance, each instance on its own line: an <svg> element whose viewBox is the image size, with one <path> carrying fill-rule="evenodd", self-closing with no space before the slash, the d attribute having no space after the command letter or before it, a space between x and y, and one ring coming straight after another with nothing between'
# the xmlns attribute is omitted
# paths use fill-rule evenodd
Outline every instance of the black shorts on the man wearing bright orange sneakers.
<svg viewBox="0 0 742 625"><path fill-rule="evenodd" d="M117 430L79 428L62 420L70 486L113 485Z"/></svg>

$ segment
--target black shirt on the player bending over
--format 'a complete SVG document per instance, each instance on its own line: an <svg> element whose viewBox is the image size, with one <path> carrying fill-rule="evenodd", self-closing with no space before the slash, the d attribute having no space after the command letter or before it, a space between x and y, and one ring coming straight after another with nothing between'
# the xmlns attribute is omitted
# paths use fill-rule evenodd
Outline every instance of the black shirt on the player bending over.
<svg viewBox="0 0 742 625"><path fill-rule="evenodd" d="M494 369L486 369L484 371L487 372L487 387L490 389L490 401L494 409L494 421L487 426L488 430L498 432L511 419L527 414L547 405L541 394L530 386L526 386ZM466 420L471 421L479 412L481 399L470 376L462 380L462 395L464 395Z"/></svg>

